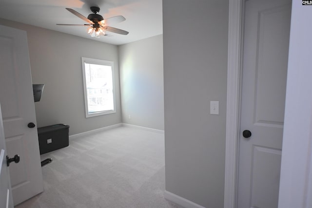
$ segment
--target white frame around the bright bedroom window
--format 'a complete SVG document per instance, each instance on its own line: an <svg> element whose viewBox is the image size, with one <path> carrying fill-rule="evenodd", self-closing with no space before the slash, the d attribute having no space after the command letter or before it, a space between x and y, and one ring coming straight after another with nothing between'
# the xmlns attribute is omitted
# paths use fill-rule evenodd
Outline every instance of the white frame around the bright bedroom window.
<svg viewBox="0 0 312 208"><path fill-rule="evenodd" d="M107 60L101 60L101 59L95 59L95 58L86 58L86 57L81 57L81 61L82 61L82 76L83 76L84 107L85 107L86 118L93 117L93 116L98 116L98 115L105 115L105 114L110 114L110 113L116 113L116 94L115 94L116 85L115 85L114 62L113 61L107 61ZM89 113L85 63L105 65L105 66L111 66L112 67L114 110L102 111L102 112L97 112L97 113Z"/></svg>

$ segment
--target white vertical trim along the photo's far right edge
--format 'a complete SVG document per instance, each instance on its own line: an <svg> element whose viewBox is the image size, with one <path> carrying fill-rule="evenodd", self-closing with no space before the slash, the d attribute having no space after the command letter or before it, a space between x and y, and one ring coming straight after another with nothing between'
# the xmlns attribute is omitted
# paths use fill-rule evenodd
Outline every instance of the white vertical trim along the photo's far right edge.
<svg viewBox="0 0 312 208"><path fill-rule="evenodd" d="M293 0L291 18L278 208L312 208L311 6Z"/></svg>

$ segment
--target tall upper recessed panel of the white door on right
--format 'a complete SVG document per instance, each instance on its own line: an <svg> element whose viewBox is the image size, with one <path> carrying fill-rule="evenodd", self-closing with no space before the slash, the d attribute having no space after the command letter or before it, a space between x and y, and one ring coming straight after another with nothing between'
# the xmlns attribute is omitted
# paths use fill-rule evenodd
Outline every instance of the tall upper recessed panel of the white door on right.
<svg viewBox="0 0 312 208"><path fill-rule="evenodd" d="M254 102L258 125L284 123L289 12L290 5L259 12Z"/></svg>

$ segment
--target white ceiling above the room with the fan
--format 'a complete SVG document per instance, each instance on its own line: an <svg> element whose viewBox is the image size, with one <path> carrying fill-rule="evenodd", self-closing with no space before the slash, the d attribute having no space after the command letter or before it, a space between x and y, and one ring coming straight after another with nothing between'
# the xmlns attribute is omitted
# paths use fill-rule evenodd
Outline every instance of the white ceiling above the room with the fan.
<svg viewBox="0 0 312 208"><path fill-rule="evenodd" d="M125 21L109 26L129 34L108 33L110 36L92 38L86 33L86 27L56 25L85 24L65 8L87 17L92 13L90 6L98 6L98 14L104 19L124 16ZM162 34L162 0L0 0L0 18L121 45Z"/></svg>

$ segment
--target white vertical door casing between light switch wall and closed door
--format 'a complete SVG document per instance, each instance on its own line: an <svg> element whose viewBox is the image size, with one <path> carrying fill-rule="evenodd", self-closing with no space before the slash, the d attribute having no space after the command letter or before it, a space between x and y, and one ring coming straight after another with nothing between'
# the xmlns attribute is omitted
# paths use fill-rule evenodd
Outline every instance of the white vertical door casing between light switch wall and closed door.
<svg viewBox="0 0 312 208"><path fill-rule="evenodd" d="M235 208L237 199L244 2L229 0L224 208Z"/></svg>

